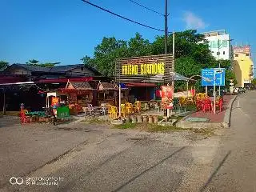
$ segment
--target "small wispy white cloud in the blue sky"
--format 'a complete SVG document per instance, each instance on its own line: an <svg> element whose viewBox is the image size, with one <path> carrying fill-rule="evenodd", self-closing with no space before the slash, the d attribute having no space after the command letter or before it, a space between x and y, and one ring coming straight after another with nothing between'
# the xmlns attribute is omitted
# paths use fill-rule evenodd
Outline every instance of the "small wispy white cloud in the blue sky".
<svg viewBox="0 0 256 192"><path fill-rule="evenodd" d="M186 22L187 29L200 30L206 28L206 23L197 15L190 11L186 11L183 15L183 21Z"/></svg>

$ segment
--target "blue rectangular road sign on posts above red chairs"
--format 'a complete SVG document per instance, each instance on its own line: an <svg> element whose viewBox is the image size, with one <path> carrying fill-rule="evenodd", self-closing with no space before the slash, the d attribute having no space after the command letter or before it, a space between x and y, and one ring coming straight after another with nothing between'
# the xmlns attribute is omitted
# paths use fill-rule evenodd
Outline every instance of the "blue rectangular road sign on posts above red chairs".
<svg viewBox="0 0 256 192"><path fill-rule="evenodd" d="M215 74L215 86L225 86L225 69L202 69L202 86L214 86L214 74Z"/></svg>

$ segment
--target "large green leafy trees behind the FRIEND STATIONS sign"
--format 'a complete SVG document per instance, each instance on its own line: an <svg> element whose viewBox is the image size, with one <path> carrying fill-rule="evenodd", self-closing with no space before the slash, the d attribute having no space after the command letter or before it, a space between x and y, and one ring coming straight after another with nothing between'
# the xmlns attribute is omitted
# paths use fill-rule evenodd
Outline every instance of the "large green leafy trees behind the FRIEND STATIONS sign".
<svg viewBox="0 0 256 192"><path fill-rule="evenodd" d="M168 37L168 53L172 53L173 36ZM85 56L82 62L85 65L93 66L103 75L112 77L114 75L114 63L117 58L138 57L150 54L164 54L164 36L157 36L153 42L142 38L141 34L135 34L129 41L118 40L114 37L102 39L102 42L95 47L94 57ZM196 30L186 30L175 33L175 71L186 77L200 75L203 68L218 67L218 62L229 72L226 74L226 81L234 77L230 71L230 61L216 59L212 56L208 42L202 34ZM186 89L184 82L175 82L175 88ZM199 88L200 81L195 85Z"/></svg>

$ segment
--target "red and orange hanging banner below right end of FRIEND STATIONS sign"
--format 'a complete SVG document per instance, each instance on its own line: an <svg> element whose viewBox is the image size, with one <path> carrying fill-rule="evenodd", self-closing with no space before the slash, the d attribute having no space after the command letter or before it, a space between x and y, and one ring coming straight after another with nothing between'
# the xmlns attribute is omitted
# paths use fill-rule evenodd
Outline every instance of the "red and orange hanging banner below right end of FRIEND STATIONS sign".
<svg viewBox="0 0 256 192"><path fill-rule="evenodd" d="M161 86L162 95L162 108L172 109L173 103L172 98L174 94L174 89L172 86Z"/></svg>

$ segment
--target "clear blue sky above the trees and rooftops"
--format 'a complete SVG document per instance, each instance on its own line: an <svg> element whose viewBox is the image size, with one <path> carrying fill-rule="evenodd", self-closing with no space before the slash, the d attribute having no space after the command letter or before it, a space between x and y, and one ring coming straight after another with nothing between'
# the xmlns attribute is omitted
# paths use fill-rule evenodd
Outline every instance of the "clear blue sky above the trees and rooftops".
<svg viewBox="0 0 256 192"><path fill-rule="evenodd" d="M164 1L134 0L159 12ZM127 18L156 28L164 28L162 16L128 0L90 0ZM81 0L1 0L0 60L25 63L31 58L40 62L79 63L92 56L104 36L130 39L136 32L152 41L162 32L137 26L107 14ZM198 32L226 29L233 43L250 43L256 55L256 2L169 1L169 30L196 28ZM255 60L255 59L254 59Z"/></svg>

